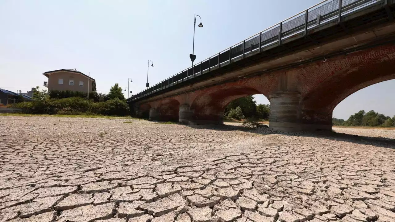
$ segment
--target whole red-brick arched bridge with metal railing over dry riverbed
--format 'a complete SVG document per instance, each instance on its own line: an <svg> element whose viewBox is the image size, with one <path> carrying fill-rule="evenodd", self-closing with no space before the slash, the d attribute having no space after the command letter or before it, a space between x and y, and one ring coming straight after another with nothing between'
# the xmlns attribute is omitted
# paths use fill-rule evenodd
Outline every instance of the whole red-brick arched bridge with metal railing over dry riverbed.
<svg viewBox="0 0 395 222"><path fill-rule="evenodd" d="M269 127L330 130L361 88L395 79L395 0L325 0L128 98L135 115L222 124L237 98L263 94Z"/></svg>

